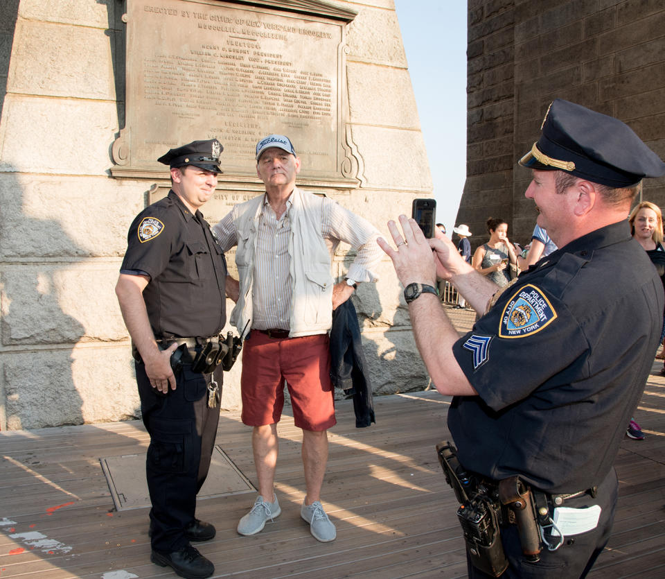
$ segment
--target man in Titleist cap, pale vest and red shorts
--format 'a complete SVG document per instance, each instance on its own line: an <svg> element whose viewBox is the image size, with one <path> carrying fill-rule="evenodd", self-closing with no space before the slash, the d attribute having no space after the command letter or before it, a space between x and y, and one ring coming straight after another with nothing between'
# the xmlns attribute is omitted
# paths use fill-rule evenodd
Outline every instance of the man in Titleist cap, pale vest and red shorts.
<svg viewBox="0 0 665 579"><path fill-rule="evenodd" d="M238 522L240 535L256 535L281 513L274 492L277 423L284 386L294 423L303 430L306 494L301 517L321 542L337 537L321 504L328 461L328 429L335 420L328 330L332 311L359 282L377 279L378 231L332 200L296 187L300 158L285 135L256 144L256 173L265 195L236 205L213 227L222 250L234 245L239 280L229 279L236 300L231 323L249 336L242 354L242 422L253 427L259 494ZM346 279L332 279L339 241L357 250Z"/></svg>

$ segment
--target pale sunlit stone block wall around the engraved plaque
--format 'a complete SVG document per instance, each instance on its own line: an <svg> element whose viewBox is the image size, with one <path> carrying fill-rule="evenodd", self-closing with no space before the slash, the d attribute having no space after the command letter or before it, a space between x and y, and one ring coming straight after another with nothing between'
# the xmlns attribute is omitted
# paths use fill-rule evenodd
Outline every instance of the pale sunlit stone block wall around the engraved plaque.
<svg viewBox="0 0 665 579"><path fill-rule="evenodd" d="M337 3L358 11L348 27L348 130L366 181L333 197L387 235L389 218L432 191L400 28L392 0ZM0 3L2 430L139 415L114 285L150 184L109 176L124 126L123 8L121 0ZM337 253L337 275L347 251ZM387 259L380 275L353 298L375 392L422 390L427 372ZM238 407L239 377L236 364L222 408Z"/></svg>

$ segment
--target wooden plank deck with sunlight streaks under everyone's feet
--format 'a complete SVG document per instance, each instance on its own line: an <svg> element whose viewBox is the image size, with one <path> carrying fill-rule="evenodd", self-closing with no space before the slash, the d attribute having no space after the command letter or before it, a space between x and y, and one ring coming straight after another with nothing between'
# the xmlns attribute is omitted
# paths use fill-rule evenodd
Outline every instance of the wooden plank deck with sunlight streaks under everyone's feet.
<svg viewBox="0 0 665 579"><path fill-rule="evenodd" d="M592 577L665 576L665 379L655 361L626 438L614 533ZM254 537L236 533L254 494L199 500L217 536L199 550L215 577L465 577L456 502L434 445L449 437L448 401L436 392L375 399L377 424L356 429L351 401L337 402L323 504L337 540L322 544L300 518L305 494L299 429L279 427L282 514ZM217 443L256 482L250 429L222 413ZM603 441L598 440L602 445ZM99 459L145 452L140 421L0 433L0 578L174 576L150 563L148 509L116 512ZM563 579L563 578L562 578Z"/></svg>

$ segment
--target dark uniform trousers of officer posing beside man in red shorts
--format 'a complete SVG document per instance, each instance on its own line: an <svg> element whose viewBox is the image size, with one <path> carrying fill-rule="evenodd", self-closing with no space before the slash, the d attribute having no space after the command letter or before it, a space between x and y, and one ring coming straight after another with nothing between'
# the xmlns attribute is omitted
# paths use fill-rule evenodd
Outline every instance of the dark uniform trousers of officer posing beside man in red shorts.
<svg viewBox="0 0 665 579"><path fill-rule="evenodd" d="M214 375L221 394L221 366ZM220 404L208 408L210 377L185 364L176 389L162 395L150 386L143 362L136 362L143 424L150 434L145 474L154 551L170 553L188 543L184 528L194 521L196 494L208 475L220 418Z"/></svg>

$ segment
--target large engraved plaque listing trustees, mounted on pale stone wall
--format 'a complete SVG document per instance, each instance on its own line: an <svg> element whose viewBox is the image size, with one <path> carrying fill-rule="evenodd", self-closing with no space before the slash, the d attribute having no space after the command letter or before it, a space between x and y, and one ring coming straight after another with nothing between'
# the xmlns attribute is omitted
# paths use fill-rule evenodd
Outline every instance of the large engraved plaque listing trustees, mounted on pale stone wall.
<svg viewBox="0 0 665 579"><path fill-rule="evenodd" d="M344 129L348 14L127 0L126 123L113 146L112 175L163 178L156 159L168 148L217 137L220 181L256 182L254 146L276 132L292 139L301 178L357 186L361 171Z"/></svg>

